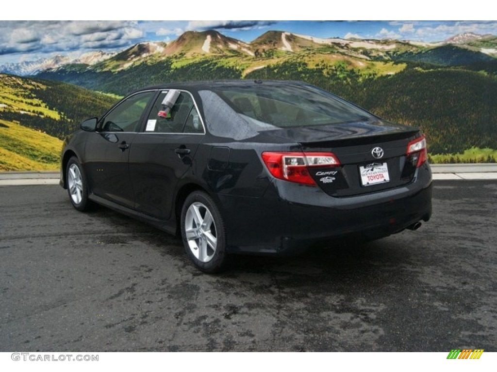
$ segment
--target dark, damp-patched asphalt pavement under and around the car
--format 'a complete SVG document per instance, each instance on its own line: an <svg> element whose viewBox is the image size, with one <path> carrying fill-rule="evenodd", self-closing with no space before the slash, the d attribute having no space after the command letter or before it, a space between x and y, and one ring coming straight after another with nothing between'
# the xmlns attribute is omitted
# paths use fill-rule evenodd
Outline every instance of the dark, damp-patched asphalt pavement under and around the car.
<svg viewBox="0 0 497 372"><path fill-rule="evenodd" d="M417 231L213 276L59 186L1 186L0 351L496 351L497 183L433 191Z"/></svg>

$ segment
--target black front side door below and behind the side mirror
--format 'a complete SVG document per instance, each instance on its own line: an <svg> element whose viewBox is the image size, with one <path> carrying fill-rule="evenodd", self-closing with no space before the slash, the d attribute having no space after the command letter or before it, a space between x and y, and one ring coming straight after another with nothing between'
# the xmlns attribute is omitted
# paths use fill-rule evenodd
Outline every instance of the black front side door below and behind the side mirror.
<svg viewBox="0 0 497 372"><path fill-rule="evenodd" d="M113 107L97 124L85 146L84 164L91 192L132 208L133 187L128 158L146 109L156 91L132 94Z"/></svg>

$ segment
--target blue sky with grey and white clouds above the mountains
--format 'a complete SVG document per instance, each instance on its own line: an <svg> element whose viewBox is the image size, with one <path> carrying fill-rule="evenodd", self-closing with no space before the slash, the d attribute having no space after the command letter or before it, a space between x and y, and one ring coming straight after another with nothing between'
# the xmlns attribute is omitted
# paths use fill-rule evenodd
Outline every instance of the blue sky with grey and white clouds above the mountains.
<svg viewBox="0 0 497 372"><path fill-rule="evenodd" d="M118 51L142 41L172 41L216 29L250 42L268 30L315 37L434 42L474 32L497 35L497 21L0 21L0 65L55 55Z"/></svg>

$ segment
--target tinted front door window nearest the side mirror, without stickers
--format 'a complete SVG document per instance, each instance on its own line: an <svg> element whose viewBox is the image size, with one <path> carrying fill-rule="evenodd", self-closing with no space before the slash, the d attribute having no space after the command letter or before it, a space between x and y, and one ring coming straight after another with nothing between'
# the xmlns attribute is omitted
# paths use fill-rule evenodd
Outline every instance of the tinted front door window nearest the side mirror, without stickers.
<svg viewBox="0 0 497 372"><path fill-rule="evenodd" d="M101 123L101 130L110 132L136 132L140 118L155 92L134 94L114 108Z"/></svg>

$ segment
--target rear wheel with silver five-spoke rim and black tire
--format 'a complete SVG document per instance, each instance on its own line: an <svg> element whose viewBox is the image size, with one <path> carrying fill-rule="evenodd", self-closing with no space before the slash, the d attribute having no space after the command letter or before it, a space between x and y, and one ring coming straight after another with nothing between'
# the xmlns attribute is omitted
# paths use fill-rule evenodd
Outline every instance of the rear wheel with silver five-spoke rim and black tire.
<svg viewBox="0 0 497 372"><path fill-rule="evenodd" d="M197 268L217 273L226 267L226 232L219 208L203 191L186 197L181 210L181 238Z"/></svg>

